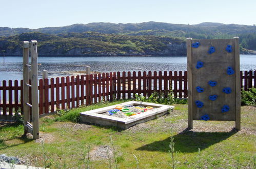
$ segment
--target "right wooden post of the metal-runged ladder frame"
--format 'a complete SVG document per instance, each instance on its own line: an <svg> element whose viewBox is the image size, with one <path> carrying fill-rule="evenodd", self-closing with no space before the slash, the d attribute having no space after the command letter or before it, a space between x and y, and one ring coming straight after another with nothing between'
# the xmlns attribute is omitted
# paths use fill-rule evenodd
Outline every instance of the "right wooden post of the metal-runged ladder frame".
<svg viewBox="0 0 256 169"><path fill-rule="evenodd" d="M31 97L32 97L32 119L33 119L33 139L39 139L39 111L38 111L38 84L37 84L37 41L31 40Z"/></svg>

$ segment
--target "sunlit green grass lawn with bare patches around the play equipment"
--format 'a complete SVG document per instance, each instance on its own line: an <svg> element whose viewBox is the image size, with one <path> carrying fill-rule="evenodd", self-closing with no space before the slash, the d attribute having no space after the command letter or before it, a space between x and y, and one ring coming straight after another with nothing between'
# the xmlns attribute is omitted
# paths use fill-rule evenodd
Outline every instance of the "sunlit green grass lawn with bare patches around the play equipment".
<svg viewBox="0 0 256 169"><path fill-rule="evenodd" d="M172 137L176 168L255 168L255 107L241 108L239 132L232 130L233 121L194 121L194 129L186 131L187 104L176 104L170 114L127 130L71 122L78 120L78 112L121 102L42 117L36 141L22 138L23 125L1 126L0 154L50 168L171 168Z"/></svg>

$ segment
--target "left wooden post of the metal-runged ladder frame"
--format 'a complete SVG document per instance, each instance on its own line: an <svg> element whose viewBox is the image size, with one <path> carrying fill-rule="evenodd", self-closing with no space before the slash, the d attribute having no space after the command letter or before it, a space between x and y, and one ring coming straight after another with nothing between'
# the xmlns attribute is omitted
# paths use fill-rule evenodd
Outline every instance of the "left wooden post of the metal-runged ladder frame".
<svg viewBox="0 0 256 169"><path fill-rule="evenodd" d="M28 59L29 59L29 42L23 41L23 93L26 93L23 97L23 114L24 114L24 135L28 133L25 125L30 120L29 117L29 107L26 105L26 102L29 102L29 87L26 83L29 83L29 68L28 68Z"/></svg>

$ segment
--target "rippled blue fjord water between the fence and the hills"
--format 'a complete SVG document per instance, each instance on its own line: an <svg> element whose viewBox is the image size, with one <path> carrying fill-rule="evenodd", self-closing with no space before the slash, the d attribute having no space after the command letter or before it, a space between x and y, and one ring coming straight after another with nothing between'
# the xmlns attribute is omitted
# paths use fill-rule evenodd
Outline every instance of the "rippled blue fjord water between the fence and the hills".
<svg viewBox="0 0 256 169"><path fill-rule="evenodd" d="M101 57L38 57L38 78L47 70L49 77L70 76L75 71L85 71L90 66L93 72L115 71L186 71L184 56L101 56ZM240 69L256 69L256 55L240 55ZM0 57L0 81L23 78L23 58Z"/></svg>

